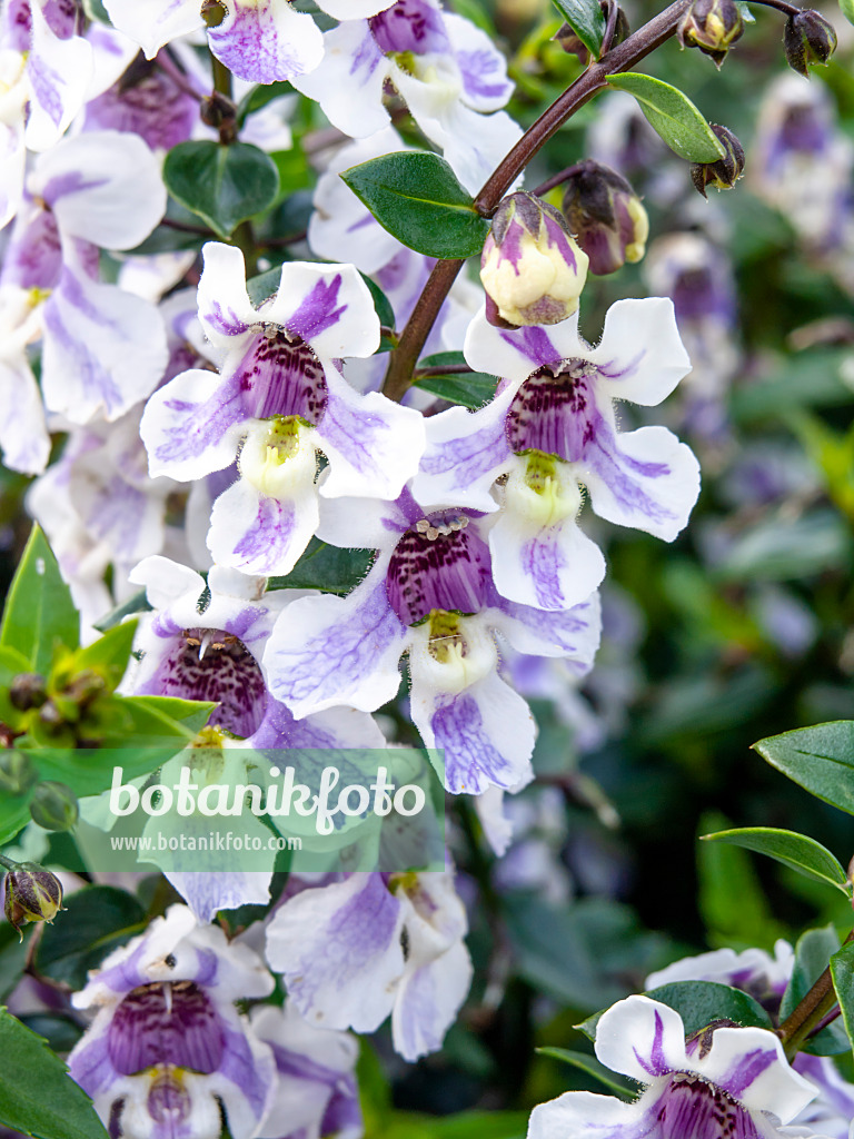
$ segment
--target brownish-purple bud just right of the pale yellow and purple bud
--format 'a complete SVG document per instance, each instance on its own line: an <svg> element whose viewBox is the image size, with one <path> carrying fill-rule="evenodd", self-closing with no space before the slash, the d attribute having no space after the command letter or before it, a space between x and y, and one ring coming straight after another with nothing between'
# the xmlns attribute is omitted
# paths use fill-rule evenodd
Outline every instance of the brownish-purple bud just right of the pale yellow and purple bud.
<svg viewBox="0 0 854 1139"><path fill-rule="evenodd" d="M649 218L640 198L622 174L592 158L580 162L567 179L564 214L597 277L640 261L646 252Z"/></svg>

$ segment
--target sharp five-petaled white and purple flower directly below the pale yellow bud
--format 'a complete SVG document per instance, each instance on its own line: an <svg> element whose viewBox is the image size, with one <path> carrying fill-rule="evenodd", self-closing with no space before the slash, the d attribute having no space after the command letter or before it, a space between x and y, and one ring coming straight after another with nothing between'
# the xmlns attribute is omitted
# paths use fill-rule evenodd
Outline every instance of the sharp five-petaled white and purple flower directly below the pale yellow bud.
<svg viewBox="0 0 854 1139"><path fill-rule="evenodd" d="M600 584L605 559L576 523L580 484L608 522L676 536L699 493L697 460L665 427L618 431L615 411L619 400L659 403L689 371L671 301L618 301L597 347L580 336L577 314L504 329L481 312L465 351L503 383L474 413L428 419L413 487L432 502L503 507L490 550L504 597L559 611Z"/></svg>

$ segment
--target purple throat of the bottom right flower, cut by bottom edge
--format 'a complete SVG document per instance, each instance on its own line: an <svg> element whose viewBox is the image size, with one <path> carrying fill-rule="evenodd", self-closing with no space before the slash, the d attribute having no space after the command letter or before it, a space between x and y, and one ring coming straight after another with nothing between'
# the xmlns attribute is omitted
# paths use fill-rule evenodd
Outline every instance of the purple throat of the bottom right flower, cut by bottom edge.
<svg viewBox="0 0 854 1139"><path fill-rule="evenodd" d="M762 1139L745 1108L699 1076L675 1073L651 1111L660 1139Z"/></svg>

